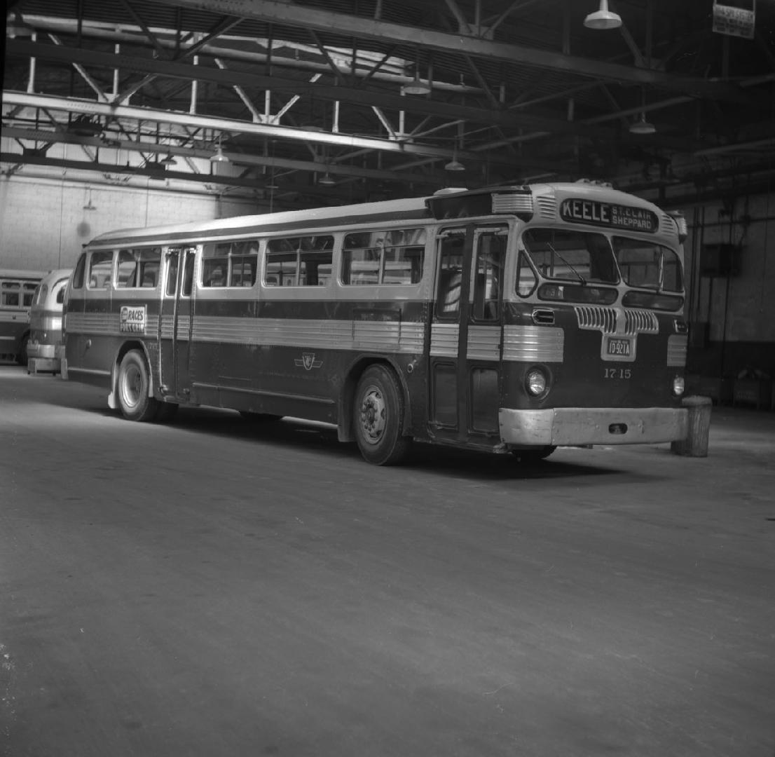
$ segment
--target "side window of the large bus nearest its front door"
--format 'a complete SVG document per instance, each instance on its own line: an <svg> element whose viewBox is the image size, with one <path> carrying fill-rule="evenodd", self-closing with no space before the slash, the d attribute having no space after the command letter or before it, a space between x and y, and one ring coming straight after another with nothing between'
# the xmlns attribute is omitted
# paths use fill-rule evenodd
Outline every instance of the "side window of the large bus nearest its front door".
<svg viewBox="0 0 775 757"><path fill-rule="evenodd" d="M342 283L418 284L424 257L425 229L347 234L342 247Z"/></svg>

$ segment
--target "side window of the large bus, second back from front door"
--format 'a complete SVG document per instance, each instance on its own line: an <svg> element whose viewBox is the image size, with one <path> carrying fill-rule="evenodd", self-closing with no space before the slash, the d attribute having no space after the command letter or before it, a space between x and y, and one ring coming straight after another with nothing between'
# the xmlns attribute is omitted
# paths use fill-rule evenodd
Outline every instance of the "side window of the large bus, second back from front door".
<svg viewBox="0 0 775 757"><path fill-rule="evenodd" d="M334 238L280 237L267 242L266 286L325 286L331 280Z"/></svg>

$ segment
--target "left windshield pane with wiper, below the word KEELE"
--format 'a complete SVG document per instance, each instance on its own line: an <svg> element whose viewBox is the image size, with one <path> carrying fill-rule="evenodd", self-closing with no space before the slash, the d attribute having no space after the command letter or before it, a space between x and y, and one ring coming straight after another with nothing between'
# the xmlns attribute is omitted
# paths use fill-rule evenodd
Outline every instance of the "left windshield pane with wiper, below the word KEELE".
<svg viewBox="0 0 775 757"><path fill-rule="evenodd" d="M539 273L572 282L616 284L619 276L608 239L570 229L528 229L522 244Z"/></svg>

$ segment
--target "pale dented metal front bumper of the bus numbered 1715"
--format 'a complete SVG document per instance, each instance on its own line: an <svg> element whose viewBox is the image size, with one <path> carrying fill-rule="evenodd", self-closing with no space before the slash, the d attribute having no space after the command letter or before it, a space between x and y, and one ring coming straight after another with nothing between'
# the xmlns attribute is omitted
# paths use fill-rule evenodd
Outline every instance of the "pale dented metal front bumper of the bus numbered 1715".
<svg viewBox="0 0 775 757"><path fill-rule="evenodd" d="M498 411L501 439L518 447L657 444L685 439L687 410L671 407L557 407Z"/></svg>

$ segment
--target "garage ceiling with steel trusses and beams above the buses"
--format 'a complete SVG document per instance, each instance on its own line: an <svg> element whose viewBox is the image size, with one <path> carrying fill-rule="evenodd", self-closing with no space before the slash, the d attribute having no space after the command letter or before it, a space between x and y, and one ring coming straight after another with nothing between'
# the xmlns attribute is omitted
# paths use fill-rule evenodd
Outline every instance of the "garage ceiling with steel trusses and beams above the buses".
<svg viewBox="0 0 775 757"><path fill-rule="evenodd" d="M688 0L621 0L625 25L593 32L594 4L21 0L2 171L271 185L289 207L582 176L667 202L775 177L766 12L734 40ZM656 133L630 133L646 114Z"/></svg>

